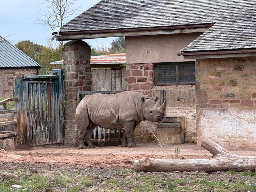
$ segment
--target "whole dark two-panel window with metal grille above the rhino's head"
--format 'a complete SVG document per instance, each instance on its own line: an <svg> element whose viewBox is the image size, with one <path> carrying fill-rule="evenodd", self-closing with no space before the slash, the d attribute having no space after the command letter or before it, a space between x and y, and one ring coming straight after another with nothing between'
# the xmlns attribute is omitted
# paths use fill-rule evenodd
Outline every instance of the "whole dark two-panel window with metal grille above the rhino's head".
<svg viewBox="0 0 256 192"><path fill-rule="evenodd" d="M156 85L195 84L195 62L155 63Z"/></svg>

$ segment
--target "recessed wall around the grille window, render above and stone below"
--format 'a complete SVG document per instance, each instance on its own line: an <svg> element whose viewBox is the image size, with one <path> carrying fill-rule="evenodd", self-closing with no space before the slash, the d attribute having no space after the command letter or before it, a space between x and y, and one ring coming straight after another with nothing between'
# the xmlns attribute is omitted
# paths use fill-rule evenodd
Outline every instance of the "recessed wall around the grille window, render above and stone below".
<svg viewBox="0 0 256 192"><path fill-rule="evenodd" d="M185 116L185 142L191 143L197 139L195 85L155 86L153 63L189 61L177 56L178 51L200 34L134 36L126 37L125 41L128 90L142 92L153 98L160 93L160 89L165 89L166 115ZM154 135L157 135L156 123L143 121L136 127L134 139L154 141Z"/></svg>

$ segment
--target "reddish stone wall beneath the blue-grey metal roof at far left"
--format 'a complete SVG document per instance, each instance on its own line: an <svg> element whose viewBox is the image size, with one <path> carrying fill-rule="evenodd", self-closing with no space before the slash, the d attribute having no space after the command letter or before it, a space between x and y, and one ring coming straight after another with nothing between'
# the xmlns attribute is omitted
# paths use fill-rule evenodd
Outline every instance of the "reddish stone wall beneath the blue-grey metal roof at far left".
<svg viewBox="0 0 256 192"><path fill-rule="evenodd" d="M14 77L20 74L36 75L36 69L1 69L0 96L11 97L14 89Z"/></svg>

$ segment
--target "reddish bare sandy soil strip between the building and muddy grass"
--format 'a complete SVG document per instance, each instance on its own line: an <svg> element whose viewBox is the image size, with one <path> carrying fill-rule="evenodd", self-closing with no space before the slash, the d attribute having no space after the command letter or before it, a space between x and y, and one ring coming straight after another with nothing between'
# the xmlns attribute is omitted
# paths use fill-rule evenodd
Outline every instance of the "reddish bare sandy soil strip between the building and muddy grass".
<svg viewBox="0 0 256 192"><path fill-rule="evenodd" d="M172 158L174 149L180 148L180 158L210 158L207 150L197 150L195 144L168 146L165 154L156 144L137 144L137 148L122 148L121 146L98 147L94 149L78 149L62 145L33 147L26 150L0 150L2 162L28 162L62 164L77 167L105 166L132 167L134 160L141 158ZM244 156L255 156L255 151L230 151Z"/></svg>

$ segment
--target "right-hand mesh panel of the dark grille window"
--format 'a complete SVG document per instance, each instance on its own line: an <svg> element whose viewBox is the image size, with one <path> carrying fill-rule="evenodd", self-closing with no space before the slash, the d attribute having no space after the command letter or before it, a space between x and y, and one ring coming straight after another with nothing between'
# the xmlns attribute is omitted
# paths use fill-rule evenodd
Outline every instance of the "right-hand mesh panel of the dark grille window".
<svg viewBox="0 0 256 192"><path fill-rule="evenodd" d="M195 83L195 63L178 64L178 83Z"/></svg>

